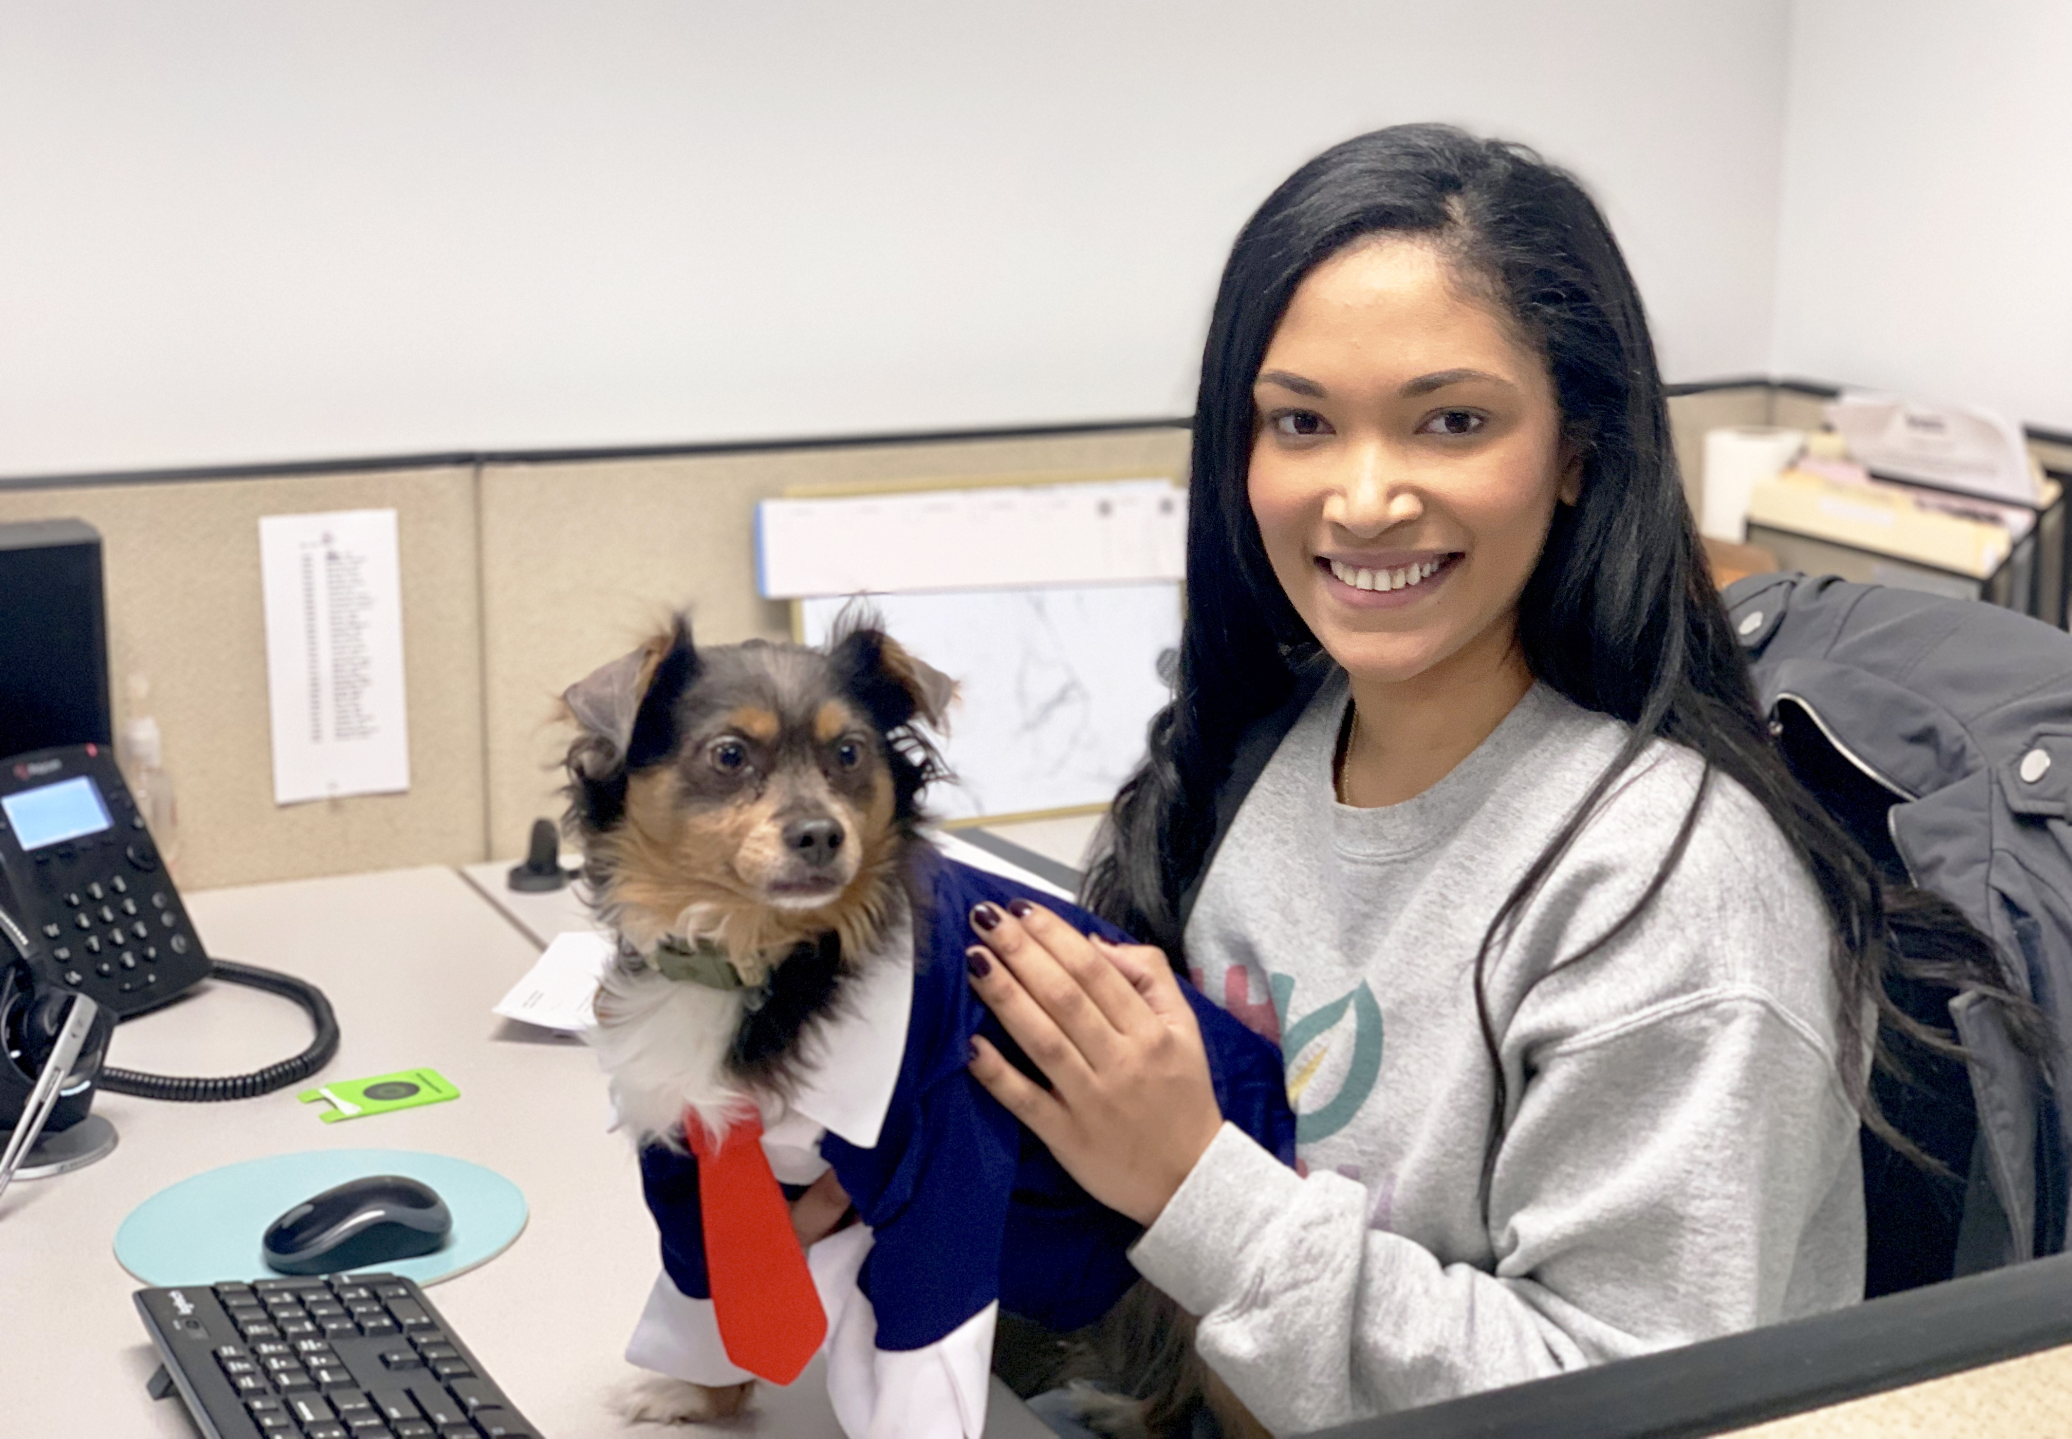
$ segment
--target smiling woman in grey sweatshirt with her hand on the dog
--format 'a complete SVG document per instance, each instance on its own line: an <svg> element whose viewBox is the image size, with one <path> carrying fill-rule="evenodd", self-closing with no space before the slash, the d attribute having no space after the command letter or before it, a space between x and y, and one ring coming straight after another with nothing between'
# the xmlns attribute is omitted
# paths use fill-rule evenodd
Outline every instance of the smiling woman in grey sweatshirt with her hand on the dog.
<svg viewBox="0 0 2072 1439"><path fill-rule="evenodd" d="M972 1070L1276 1433L1861 1298L1877 879L1769 746L1633 278L1529 151L1378 131L1241 232L1179 686L1088 890L1156 948L982 908L1051 1089ZM1283 1043L1301 1172L1220 1124L1169 960Z"/></svg>

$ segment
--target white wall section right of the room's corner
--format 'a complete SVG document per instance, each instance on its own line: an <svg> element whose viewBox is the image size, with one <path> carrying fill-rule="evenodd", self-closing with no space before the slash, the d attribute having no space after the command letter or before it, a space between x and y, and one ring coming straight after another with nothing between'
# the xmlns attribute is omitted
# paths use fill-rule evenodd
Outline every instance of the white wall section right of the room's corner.
<svg viewBox="0 0 2072 1439"><path fill-rule="evenodd" d="M1794 0L1778 373L2072 429L2072 6Z"/></svg>

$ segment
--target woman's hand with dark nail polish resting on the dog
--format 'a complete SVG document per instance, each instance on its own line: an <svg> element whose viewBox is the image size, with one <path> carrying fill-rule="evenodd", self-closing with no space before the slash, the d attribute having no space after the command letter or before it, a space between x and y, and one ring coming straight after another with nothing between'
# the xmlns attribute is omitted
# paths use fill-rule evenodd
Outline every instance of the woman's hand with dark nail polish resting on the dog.
<svg viewBox="0 0 2072 1439"><path fill-rule="evenodd" d="M1193 1010L1158 950L1090 939L1028 900L1009 910L972 910L984 943L966 962L1051 1089L984 1039L972 1074L1088 1194L1150 1225L1222 1126Z"/></svg>

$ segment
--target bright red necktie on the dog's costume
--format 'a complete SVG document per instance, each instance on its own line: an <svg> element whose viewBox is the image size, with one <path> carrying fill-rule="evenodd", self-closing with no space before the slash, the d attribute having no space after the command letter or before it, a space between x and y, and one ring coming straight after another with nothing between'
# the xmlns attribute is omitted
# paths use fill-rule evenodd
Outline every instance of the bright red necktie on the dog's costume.
<svg viewBox="0 0 2072 1439"><path fill-rule="evenodd" d="M698 1159L704 1277L719 1339L750 1375L792 1383L821 1350L827 1313L792 1230L792 1207L762 1155L762 1120L736 1120L715 1149L698 1116L686 1113L684 1138Z"/></svg>

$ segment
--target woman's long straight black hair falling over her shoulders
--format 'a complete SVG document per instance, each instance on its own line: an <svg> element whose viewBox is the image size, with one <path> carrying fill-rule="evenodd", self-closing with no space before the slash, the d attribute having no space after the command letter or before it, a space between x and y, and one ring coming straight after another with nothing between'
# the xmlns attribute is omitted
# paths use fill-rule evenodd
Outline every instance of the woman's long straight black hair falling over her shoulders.
<svg viewBox="0 0 2072 1439"><path fill-rule="evenodd" d="M1954 1049L1948 1035L1888 995L1886 977L1898 962L1894 925L1948 937L1935 948L1941 981L1987 987L2018 1018L2035 1010L2008 991L1991 943L1968 931L1954 906L1921 894L1888 904L1865 852L1786 769L1757 713L1685 502L1639 290L1583 187L1523 145L1442 124L1374 131L1289 176L1239 232L1202 355L1175 697L1152 722L1148 759L1109 813L1088 871L1088 906L1183 964L1179 898L1208 863L1216 790L1243 734L1289 699L1297 670L1318 655L1316 637L1274 579L1247 500L1251 384L1301 280L1368 236L1434 245L1455 280L1546 357L1564 440L1583 456L1583 483L1577 504L1556 506L1525 583L1519 645L1535 678L1631 726L1612 765L1484 933L1475 1008L1492 1064L1498 1035L1486 970L1494 946L1620 773L1664 738L1703 759L1697 796L1635 906L1562 964L1587 958L1641 916L1682 858L1707 788L1716 775L1732 778L1776 821L1832 919L1840 1080L1873 1132L1921 1157L1879 1113L1861 1064L1879 1031ZM1867 1012L1877 1014L1869 1033ZM1888 1045L1877 1051L1890 1062ZM1490 1161L1504 1116L1496 1064Z"/></svg>

